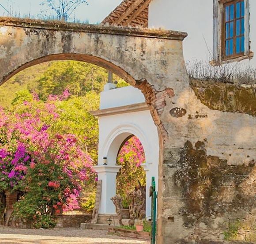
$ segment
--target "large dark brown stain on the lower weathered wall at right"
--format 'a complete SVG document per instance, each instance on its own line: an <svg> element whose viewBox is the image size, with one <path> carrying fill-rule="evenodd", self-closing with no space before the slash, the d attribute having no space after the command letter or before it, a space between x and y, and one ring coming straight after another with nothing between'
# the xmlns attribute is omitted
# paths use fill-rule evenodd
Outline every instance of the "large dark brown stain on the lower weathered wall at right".
<svg viewBox="0 0 256 244"><path fill-rule="evenodd" d="M191 142L185 143L174 182L182 189L180 215L184 226L194 229L193 238L219 235L216 238L222 239L230 221L237 219L241 227L251 223L247 236L255 233L256 167L253 161L250 165L230 166L226 160L208 156L205 142L197 142L195 148Z"/></svg>

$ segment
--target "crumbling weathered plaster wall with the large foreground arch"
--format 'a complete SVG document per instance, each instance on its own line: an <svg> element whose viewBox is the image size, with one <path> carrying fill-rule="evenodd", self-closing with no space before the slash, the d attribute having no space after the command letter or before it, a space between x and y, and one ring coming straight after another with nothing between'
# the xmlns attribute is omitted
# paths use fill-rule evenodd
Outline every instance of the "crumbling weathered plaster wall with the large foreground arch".
<svg viewBox="0 0 256 244"><path fill-rule="evenodd" d="M158 127L158 243L218 243L236 219L250 226L239 229L246 229L239 238L252 239L256 101L246 101L248 113L230 109L232 99L224 99L228 109L217 109L222 98L209 99L210 86L190 86L185 36L0 18L0 84L50 60L91 62L113 71L143 92Z"/></svg>

